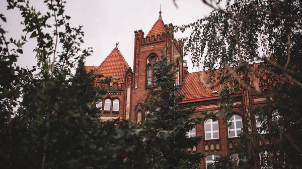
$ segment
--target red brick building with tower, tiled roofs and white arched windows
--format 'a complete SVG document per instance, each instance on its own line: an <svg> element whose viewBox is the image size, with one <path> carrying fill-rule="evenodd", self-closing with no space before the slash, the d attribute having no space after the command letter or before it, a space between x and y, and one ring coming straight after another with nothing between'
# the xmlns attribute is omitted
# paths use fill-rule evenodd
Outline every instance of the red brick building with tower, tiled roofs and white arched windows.
<svg viewBox="0 0 302 169"><path fill-rule="evenodd" d="M97 73L106 76L117 77L110 86L115 87L116 91L108 90L102 101L97 106L102 107L102 120L115 118L129 119L132 122L140 122L145 119L145 110L143 103L147 102L150 93L149 90L154 88L153 66L160 59L161 51L168 56L169 61L176 63L175 69L179 69L176 83L182 83L184 86L181 93L187 93L186 98L181 103L181 107L197 106L196 115L205 110L215 112L219 99L221 86L214 89L205 88L200 82L199 75L205 80L208 74L205 72L188 73L186 63L182 63L180 57L183 55L183 44L174 39L172 31L173 25L165 25L161 16L158 18L149 33L144 36L142 30L134 31L134 63L133 69L129 67L118 45L112 50L109 56L100 64L100 66L86 66L87 70L94 69ZM257 65L255 65L257 66ZM255 81L257 83L257 81ZM98 83L97 83L98 84ZM258 86L254 84L254 86ZM255 90L259 88L255 87ZM203 152L206 156L202 160L201 167L205 168L206 164L213 162L218 156L230 156L238 158L238 135L244 130L257 132L256 121L247 121L249 128L243 124L247 120L246 114L251 108L259 107L266 102L266 98L260 97L256 92L241 90L235 94L236 105L233 110L233 122L231 127L222 123L221 116L215 117L218 120L212 120L214 115L205 117L201 124L198 124L188 135L203 135L202 141L196 147L196 150ZM255 119L255 117L251 118Z"/></svg>

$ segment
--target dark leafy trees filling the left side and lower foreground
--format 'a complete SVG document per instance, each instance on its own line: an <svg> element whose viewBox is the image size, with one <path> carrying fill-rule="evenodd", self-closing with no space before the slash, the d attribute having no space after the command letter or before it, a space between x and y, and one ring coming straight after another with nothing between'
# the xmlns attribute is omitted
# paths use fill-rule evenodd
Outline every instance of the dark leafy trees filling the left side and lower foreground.
<svg viewBox="0 0 302 169"><path fill-rule="evenodd" d="M80 49L82 27L70 27L64 1L44 4L41 14L28 1L7 1L8 10L21 11L21 40L8 40L0 27L0 168L162 168L169 132L155 129L154 120L98 122L93 105L104 89L85 71L92 49ZM16 61L28 39L37 42L37 65L21 69Z"/></svg>

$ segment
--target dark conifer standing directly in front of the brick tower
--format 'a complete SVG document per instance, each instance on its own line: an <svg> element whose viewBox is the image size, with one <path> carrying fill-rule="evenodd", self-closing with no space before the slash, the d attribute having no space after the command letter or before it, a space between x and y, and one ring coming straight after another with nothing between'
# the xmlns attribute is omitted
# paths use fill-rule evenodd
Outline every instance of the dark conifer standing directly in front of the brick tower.
<svg viewBox="0 0 302 169"><path fill-rule="evenodd" d="M187 133L195 128L200 118L192 117L194 108L180 108L179 103L185 96L179 94L182 85L176 85L179 70L173 70L174 66L174 63L168 64L167 56L162 53L153 74L157 88L150 91L153 97L145 105L150 112L147 120L155 118L156 129L171 131L169 140L172 144L168 149L162 149L163 157L170 164L167 168L178 168L184 163L186 168L196 168L203 154L192 152L192 149L200 142L201 136L188 137Z"/></svg>

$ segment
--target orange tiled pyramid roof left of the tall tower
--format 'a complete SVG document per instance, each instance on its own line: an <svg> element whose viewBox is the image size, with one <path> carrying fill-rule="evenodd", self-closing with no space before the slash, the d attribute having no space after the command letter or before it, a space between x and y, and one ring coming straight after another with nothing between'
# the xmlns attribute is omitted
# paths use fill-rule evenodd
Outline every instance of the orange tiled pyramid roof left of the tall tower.
<svg viewBox="0 0 302 169"><path fill-rule="evenodd" d="M113 80L118 83L125 82L125 72L129 68L118 48L114 48L107 58L98 67L86 66L86 70L96 68L96 73L104 77L117 77L119 80Z"/></svg>

